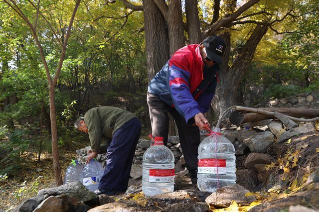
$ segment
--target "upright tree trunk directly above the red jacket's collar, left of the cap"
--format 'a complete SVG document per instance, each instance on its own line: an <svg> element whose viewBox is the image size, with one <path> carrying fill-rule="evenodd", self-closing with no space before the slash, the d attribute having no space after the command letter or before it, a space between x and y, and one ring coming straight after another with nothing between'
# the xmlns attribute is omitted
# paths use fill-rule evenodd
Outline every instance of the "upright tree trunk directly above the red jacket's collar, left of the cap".
<svg viewBox="0 0 319 212"><path fill-rule="evenodd" d="M188 43L200 43L202 40L198 17L197 0L185 0Z"/></svg>

